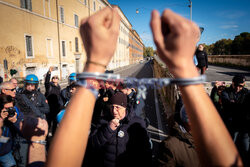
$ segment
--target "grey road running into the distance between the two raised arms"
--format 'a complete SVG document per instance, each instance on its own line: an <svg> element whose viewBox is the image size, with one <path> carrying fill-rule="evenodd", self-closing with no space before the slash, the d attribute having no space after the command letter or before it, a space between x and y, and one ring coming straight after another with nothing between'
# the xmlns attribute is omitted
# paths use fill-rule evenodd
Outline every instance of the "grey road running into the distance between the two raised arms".
<svg viewBox="0 0 250 167"><path fill-rule="evenodd" d="M132 65L130 68L115 71L115 73L120 74L122 77L153 78L152 66L148 61L142 64ZM164 111L160 105L161 102L158 100L157 91L148 89L144 110L146 117L150 121L150 125L147 129L153 143L153 157L157 156L159 143L167 137Z"/></svg>

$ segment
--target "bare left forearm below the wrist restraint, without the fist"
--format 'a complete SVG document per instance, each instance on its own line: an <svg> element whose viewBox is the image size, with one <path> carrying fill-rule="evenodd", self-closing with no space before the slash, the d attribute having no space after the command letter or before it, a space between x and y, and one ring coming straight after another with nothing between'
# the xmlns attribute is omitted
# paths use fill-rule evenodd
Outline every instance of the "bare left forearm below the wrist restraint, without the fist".
<svg viewBox="0 0 250 167"><path fill-rule="evenodd" d="M47 166L80 166L83 160L95 97L79 88L72 98L50 146Z"/></svg>

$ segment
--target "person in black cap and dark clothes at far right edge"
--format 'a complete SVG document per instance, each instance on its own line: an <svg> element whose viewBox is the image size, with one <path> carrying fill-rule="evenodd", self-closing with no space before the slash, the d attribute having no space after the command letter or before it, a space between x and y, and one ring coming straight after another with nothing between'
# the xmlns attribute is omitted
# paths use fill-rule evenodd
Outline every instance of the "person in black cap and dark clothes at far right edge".
<svg viewBox="0 0 250 167"><path fill-rule="evenodd" d="M244 105L249 90L244 87L245 82L245 76L234 76L231 86L222 92L221 97L225 124L238 147L244 163L246 163L249 150L249 126L247 119L249 108Z"/></svg>

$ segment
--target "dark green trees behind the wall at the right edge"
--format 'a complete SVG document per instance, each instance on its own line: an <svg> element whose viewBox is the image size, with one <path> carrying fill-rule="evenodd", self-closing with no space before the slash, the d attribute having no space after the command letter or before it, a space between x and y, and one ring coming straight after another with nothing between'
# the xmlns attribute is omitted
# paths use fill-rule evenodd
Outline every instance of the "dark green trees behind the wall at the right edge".
<svg viewBox="0 0 250 167"><path fill-rule="evenodd" d="M250 54L250 33L243 32L235 36L234 40L221 39L204 48L209 55Z"/></svg>

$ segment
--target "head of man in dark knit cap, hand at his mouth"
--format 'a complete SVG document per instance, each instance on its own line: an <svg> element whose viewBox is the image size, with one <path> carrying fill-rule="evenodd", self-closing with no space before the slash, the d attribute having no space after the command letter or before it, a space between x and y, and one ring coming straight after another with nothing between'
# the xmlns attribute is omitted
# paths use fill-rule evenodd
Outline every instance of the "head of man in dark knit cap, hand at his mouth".
<svg viewBox="0 0 250 167"><path fill-rule="evenodd" d="M109 99L111 105L111 115L114 118L122 120L127 114L127 95L122 92L117 92Z"/></svg>

